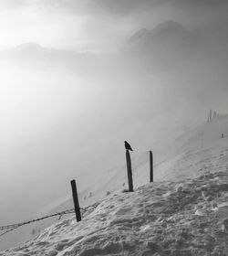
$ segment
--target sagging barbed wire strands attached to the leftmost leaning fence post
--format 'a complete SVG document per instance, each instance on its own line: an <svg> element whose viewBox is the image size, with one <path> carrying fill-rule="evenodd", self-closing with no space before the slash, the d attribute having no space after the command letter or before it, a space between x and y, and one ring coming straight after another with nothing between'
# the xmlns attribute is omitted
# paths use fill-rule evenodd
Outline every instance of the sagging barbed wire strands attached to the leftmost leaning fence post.
<svg viewBox="0 0 228 256"><path fill-rule="evenodd" d="M41 217L41 218L31 219L31 220L27 220L27 221L24 221L24 222L10 224L10 225L5 225L5 226L0 226L0 231L5 230L5 232L0 234L0 237L4 236L6 233L8 233L10 231L13 231L13 230L15 230L15 229L17 229L19 227L24 226L24 225L28 225L28 224L34 223L36 221L41 221L43 219L53 218L53 217L57 217L57 216L59 216L59 219L61 219L62 216L64 216L64 215L74 213L76 209L80 209L83 212L87 212L89 210L93 210L93 209L98 207L98 204L99 204L99 202L95 203L95 204L93 204L91 206L85 207L85 208L69 208L69 209L63 210L61 212L56 212L56 213L53 213L53 214L50 214L50 215L47 215L47 216L44 216L44 217Z"/></svg>

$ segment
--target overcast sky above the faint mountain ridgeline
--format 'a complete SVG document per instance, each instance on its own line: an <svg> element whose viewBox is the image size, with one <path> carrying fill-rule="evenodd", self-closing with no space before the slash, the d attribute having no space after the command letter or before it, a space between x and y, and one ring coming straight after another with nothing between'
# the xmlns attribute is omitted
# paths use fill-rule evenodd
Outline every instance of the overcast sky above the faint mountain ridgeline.
<svg viewBox="0 0 228 256"><path fill-rule="evenodd" d="M226 0L0 0L0 48L36 42L78 51L117 50L141 27L174 19L221 26Z"/></svg>

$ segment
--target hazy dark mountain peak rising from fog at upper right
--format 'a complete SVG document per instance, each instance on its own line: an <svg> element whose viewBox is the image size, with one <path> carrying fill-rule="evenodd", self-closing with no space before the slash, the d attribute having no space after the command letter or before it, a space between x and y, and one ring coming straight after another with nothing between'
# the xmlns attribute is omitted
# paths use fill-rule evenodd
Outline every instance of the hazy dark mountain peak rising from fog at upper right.
<svg viewBox="0 0 228 256"><path fill-rule="evenodd" d="M126 50L133 54L153 54L166 58L179 53L194 51L199 47L195 34L183 27L181 23L168 20L152 29L141 28L126 42ZM181 57L182 58L182 57Z"/></svg>

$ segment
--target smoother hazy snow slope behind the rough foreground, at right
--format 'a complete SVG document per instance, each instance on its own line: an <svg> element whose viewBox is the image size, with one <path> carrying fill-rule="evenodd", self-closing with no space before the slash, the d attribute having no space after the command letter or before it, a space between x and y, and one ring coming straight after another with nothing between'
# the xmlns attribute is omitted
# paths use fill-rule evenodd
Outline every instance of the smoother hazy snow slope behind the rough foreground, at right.
<svg viewBox="0 0 228 256"><path fill-rule="evenodd" d="M228 164L227 147L228 115L222 115L177 138L170 159L157 166L155 176L157 180L180 180L223 170Z"/></svg>

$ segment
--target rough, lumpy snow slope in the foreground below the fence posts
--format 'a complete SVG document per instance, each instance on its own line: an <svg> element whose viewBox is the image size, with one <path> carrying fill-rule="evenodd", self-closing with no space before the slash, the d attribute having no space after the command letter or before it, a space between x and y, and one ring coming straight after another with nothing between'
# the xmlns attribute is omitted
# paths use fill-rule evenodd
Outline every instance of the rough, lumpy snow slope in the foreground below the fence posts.
<svg viewBox="0 0 228 256"><path fill-rule="evenodd" d="M227 171L112 195L0 255L227 255Z"/></svg>

